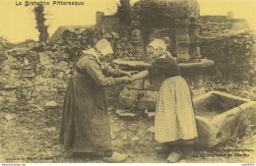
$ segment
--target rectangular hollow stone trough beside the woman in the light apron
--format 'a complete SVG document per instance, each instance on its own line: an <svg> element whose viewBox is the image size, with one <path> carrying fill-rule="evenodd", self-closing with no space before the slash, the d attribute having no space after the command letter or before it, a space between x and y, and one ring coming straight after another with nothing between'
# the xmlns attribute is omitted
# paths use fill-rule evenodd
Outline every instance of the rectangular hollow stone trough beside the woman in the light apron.
<svg viewBox="0 0 256 166"><path fill-rule="evenodd" d="M213 147L236 138L256 122L256 102L249 99L210 91L193 102L200 145Z"/></svg>

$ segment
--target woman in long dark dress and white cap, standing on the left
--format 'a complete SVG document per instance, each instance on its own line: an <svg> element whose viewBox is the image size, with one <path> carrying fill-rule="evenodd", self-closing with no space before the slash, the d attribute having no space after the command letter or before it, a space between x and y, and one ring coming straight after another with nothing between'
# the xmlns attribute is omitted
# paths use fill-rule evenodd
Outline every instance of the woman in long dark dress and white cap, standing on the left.
<svg viewBox="0 0 256 166"><path fill-rule="evenodd" d="M110 126L104 87L130 83L129 72L103 66L100 60L113 53L101 39L96 47L83 51L76 64L64 99L60 141L72 152L102 155L107 162L122 162L127 155L111 149ZM121 78L112 78L112 77Z"/></svg>

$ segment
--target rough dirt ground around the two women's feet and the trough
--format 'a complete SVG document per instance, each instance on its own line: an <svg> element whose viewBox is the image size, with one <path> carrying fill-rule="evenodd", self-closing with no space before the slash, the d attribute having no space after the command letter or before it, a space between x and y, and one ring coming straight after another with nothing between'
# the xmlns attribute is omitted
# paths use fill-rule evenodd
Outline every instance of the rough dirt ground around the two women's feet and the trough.
<svg viewBox="0 0 256 166"><path fill-rule="evenodd" d="M221 85L222 86L222 85ZM127 163L164 163L166 154L158 153L155 148L159 143L149 128L154 126L154 119L148 118L144 111L134 110L136 117L119 117L115 110L119 107L118 88L106 89L109 100L112 146L115 151L129 154ZM213 84L211 88L215 88ZM209 88L209 89L211 89ZM248 87L248 90L254 87ZM231 87L227 88L231 89ZM239 87L240 91L244 91ZM237 91L236 91L237 92ZM233 91L233 93L236 93ZM247 94L240 92L240 96ZM255 93L254 93L255 95ZM248 95L247 95L248 96ZM71 155L63 150L58 141L64 92L44 92L28 103L28 107L10 112L0 112L0 162L1 163L101 163L99 156L87 154ZM47 100L54 100L58 107L45 109ZM255 162L255 126L251 126L242 138L230 140L214 149L197 148L187 151L180 162L185 163L234 163ZM211 156L222 150L252 149L245 152L228 152L229 157ZM214 151L214 152L213 152Z"/></svg>

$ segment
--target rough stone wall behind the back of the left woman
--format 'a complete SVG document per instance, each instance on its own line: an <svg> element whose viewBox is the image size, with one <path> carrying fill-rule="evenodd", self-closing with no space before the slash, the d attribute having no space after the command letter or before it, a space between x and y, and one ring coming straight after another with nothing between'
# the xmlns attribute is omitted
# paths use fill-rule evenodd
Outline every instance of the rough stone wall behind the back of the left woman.
<svg viewBox="0 0 256 166"><path fill-rule="evenodd" d="M2 51L0 110L31 110L34 100L66 90L74 63L63 52L35 52L26 47ZM40 102L44 103L45 99Z"/></svg>

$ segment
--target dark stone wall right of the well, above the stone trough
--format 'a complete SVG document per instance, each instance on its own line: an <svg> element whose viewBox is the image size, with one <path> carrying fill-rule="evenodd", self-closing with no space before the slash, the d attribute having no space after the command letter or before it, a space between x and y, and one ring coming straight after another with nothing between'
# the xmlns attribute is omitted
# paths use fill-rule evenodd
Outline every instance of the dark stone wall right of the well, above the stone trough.
<svg viewBox="0 0 256 166"><path fill-rule="evenodd" d="M202 38L201 54L215 61L217 79L246 81L254 84L256 55L252 31Z"/></svg>

